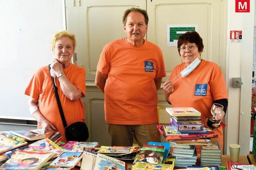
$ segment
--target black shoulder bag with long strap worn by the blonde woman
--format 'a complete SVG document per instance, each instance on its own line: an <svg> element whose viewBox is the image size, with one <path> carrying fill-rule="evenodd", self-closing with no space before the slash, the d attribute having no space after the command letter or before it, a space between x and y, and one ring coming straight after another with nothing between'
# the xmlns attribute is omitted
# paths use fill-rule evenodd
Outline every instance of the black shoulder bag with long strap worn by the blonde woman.
<svg viewBox="0 0 256 170"><path fill-rule="evenodd" d="M50 72L50 64L48 65L48 68L49 68L49 72ZM61 104L60 104L58 88L54 83L54 77L53 76L51 76L51 77L52 77L52 82L53 82L54 94L55 94L55 97L56 97L56 100L57 100L57 103L59 106L59 110L60 110L61 120L66 129L65 136L67 138L67 141L86 141L89 138L89 131L84 122L75 122L75 123L67 126L67 122L66 122Z"/></svg>

